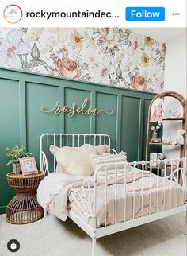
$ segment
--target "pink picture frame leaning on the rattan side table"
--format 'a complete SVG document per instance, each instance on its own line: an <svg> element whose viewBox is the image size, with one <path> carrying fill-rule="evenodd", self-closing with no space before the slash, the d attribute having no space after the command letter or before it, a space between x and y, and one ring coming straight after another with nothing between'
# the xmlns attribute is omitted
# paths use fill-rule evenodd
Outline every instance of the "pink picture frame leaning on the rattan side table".
<svg viewBox="0 0 187 256"><path fill-rule="evenodd" d="M37 169L36 161L34 157L20 158L19 161L20 161L21 171L23 175L38 173L38 169Z"/></svg>

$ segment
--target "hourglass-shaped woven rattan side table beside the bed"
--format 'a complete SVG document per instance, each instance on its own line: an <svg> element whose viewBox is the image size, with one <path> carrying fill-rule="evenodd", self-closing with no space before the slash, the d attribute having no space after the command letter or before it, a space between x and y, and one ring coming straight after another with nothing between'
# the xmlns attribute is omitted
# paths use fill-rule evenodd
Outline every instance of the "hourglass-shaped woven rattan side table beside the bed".
<svg viewBox="0 0 187 256"><path fill-rule="evenodd" d="M12 224L27 224L43 218L44 211L36 200L36 189L44 179L44 173L8 173L6 178L10 187L17 192L6 207L6 220Z"/></svg>

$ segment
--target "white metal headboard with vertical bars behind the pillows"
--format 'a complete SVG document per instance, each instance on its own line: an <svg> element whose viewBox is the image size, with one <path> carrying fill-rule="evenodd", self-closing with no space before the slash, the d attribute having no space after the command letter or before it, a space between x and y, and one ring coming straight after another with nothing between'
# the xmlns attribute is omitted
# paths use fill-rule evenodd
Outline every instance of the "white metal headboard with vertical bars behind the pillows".
<svg viewBox="0 0 187 256"><path fill-rule="evenodd" d="M40 136L40 170L44 172L55 172L55 156L49 151L50 145L79 147L83 144L109 145L108 134L42 134Z"/></svg>

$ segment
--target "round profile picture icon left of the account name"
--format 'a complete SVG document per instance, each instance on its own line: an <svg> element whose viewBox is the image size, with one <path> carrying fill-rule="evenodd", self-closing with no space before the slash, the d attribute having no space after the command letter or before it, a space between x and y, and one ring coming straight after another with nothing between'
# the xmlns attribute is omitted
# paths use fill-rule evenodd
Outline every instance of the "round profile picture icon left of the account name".
<svg viewBox="0 0 187 256"><path fill-rule="evenodd" d="M23 12L22 12L20 6L9 5L9 6L6 6L6 8L3 12L3 15L7 22L15 24L15 23L21 21Z"/></svg>

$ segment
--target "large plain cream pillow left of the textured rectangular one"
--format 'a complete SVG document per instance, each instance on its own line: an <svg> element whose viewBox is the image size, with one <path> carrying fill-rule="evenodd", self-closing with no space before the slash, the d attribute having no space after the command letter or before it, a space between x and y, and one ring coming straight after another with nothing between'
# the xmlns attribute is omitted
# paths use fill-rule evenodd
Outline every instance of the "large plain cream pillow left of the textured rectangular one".
<svg viewBox="0 0 187 256"><path fill-rule="evenodd" d="M55 155L57 167L74 176L91 176L93 168L90 161L91 154L97 154L97 150L90 144L84 144L79 148L64 146L59 148L50 146L50 151ZM60 169L59 169L60 171Z"/></svg>

